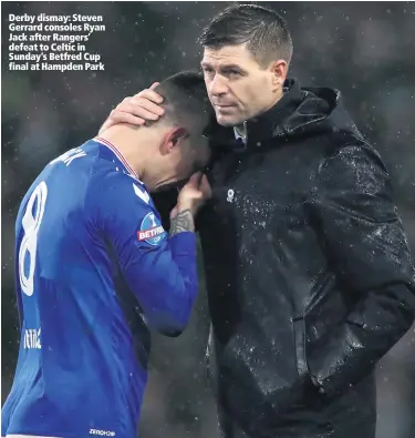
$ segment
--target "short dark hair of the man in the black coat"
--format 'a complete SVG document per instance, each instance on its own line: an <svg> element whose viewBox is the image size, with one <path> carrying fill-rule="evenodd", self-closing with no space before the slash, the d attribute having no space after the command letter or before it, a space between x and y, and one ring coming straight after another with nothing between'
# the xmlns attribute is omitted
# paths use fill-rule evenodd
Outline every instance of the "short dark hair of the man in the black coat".
<svg viewBox="0 0 415 438"><path fill-rule="evenodd" d="M197 42L212 49L247 43L261 64L272 59L290 63L293 50L287 21L272 9L257 4L231 6L219 12Z"/></svg>

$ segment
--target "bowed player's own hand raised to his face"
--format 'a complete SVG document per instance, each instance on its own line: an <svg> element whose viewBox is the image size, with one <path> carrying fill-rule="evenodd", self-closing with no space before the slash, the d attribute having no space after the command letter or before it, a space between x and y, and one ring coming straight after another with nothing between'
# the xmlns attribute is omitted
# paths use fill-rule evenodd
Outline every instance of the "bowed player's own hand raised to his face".
<svg viewBox="0 0 415 438"><path fill-rule="evenodd" d="M200 172L193 174L186 185L181 187L177 197L177 205L172 210L170 218L185 210L190 210L195 217L198 210L210 197L211 187L207 176Z"/></svg>

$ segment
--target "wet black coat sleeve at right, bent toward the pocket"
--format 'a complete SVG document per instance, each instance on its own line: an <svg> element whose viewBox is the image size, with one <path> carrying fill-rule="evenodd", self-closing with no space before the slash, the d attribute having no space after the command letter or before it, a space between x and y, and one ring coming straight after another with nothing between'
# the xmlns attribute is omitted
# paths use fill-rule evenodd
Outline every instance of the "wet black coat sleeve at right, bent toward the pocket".
<svg viewBox="0 0 415 438"><path fill-rule="evenodd" d="M349 145L328 159L309 205L328 259L359 296L344 323L308 358L314 383L335 395L372 371L409 329L414 266L390 176L370 147Z"/></svg>

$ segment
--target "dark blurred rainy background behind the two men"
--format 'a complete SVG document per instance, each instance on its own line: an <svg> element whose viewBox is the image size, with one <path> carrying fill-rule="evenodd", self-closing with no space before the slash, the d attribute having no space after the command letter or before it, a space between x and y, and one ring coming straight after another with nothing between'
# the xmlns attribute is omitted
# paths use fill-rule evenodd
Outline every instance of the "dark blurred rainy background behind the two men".
<svg viewBox="0 0 415 438"><path fill-rule="evenodd" d="M195 40L225 2L2 2L2 401L19 347L13 289L14 220L42 167L94 136L126 95L197 68ZM291 75L340 89L357 126L381 152L415 254L415 3L261 2L288 21ZM9 72L8 14L101 14L105 32L86 43L105 71ZM68 187L71 190L71 187ZM219 244L219 243L218 243ZM200 269L200 274L203 272ZM208 333L203 289L177 339L155 336L143 438L216 437L205 374ZM415 327L377 365L377 438L415 437Z"/></svg>

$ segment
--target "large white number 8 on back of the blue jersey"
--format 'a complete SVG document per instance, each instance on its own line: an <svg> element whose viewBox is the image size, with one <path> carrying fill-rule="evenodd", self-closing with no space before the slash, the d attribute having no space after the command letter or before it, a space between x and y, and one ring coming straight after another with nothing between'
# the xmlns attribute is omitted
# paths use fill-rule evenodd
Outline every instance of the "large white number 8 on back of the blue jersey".
<svg viewBox="0 0 415 438"><path fill-rule="evenodd" d="M22 218L24 235L19 249L19 277L21 288L28 296L33 295L33 274L37 264L38 231L42 222L46 197L48 186L44 181L42 181L30 196ZM33 216L33 205L35 202L38 205L35 215ZM28 275L24 272L24 259L27 256L30 257Z"/></svg>

